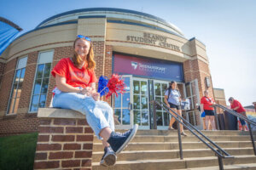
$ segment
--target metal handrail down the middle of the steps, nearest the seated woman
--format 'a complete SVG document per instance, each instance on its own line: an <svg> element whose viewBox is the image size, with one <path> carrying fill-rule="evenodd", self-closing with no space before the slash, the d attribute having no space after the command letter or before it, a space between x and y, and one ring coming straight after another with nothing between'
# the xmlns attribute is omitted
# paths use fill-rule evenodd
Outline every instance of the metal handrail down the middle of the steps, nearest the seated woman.
<svg viewBox="0 0 256 170"><path fill-rule="evenodd" d="M177 114L177 112L173 111L165 103L163 103L161 101L159 102L159 101L156 101L156 100L152 100L151 102L154 104L154 127L156 127L156 125L155 125L156 124L155 105L159 105L162 109L164 109L167 113L169 113L171 116L173 116L176 119L176 121L177 121L177 135L178 135L178 143L179 143L179 150L180 150L180 158L181 159L183 159L183 149L182 149L182 141L181 141L181 133L180 133L180 128L179 128L179 123L181 123L184 127L186 127L190 131L190 133L193 133L195 135L195 137L200 139L202 143L206 144L208 148L210 148L213 152L215 152L215 155L218 156L218 167L219 167L220 170L224 169L223 160L222 160L223 158L234 158L234 156L230 156L230 154L227 153L225 150L223 150L221 147L219 147L218 144L215 144L211 139L207 138L207 136L205 134L201 133L196 127L191 125L182 116L179 116ZM172 111L172 113L170 111ZM193 131L192 129L194 129L197 133L201 134L202 137L207 139L207 141L209 143L211 143L212 145L214 145L217 148L217 150L215 148L213 148L211 144L208 144L205 139L202 139L198 134L196 134L195 131Z"/></svg>

